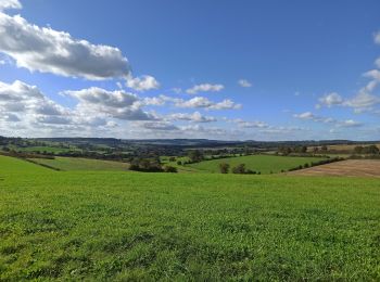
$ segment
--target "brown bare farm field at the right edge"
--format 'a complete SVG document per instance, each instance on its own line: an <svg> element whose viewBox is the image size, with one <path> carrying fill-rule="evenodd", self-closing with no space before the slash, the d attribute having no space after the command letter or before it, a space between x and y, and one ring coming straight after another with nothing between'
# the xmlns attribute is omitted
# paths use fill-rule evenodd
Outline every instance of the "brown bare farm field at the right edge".
<svg viewBox="0 0 380 282"><path fill-rule="evenodd" d="M288 172L296 176L380 177L379 159L347 159Z"/></svg>

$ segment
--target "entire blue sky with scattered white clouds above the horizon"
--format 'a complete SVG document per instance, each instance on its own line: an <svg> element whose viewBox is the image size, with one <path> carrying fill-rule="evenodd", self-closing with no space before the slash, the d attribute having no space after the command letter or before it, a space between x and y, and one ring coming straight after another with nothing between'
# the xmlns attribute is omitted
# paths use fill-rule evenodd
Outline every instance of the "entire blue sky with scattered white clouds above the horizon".
<svg viewBox="0 0 380 282"><path fill-rule="evenodd" d="M0 136L380 140L379 11L0 0Z"/></svg>

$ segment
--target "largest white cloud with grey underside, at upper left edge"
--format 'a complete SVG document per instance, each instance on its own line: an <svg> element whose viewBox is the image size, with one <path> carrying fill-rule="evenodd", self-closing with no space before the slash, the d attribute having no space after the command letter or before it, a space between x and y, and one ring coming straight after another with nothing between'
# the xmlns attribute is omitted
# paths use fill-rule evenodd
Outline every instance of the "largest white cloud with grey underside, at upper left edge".
<svg viewBox="0 0 380 282"><path fill-rule="evenodd" d="M31 72L100 80L130 75L117 48L91 44L64 31L29 24L20 15L0 12L0 52Z"/></svg>

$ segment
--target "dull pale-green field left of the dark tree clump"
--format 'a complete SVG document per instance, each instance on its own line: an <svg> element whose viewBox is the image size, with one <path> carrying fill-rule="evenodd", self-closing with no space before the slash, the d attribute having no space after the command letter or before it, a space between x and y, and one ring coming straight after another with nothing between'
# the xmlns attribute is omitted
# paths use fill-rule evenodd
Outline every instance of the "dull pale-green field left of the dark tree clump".
<svg viewBox="0 0 380 282"><path fill-rule="evenodd" d="M121 162L90 159L80 157L55 157L49 158L31 158L31 161L58 168L60 170L118 170L125 171L129 165Z"/></svg>

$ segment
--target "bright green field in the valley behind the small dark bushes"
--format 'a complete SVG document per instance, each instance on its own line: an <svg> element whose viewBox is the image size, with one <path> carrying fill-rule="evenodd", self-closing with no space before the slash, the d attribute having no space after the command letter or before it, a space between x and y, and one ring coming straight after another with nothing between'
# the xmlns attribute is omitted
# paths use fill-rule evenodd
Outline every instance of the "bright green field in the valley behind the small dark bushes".
<svg viewBox="0 0 380 282"><path fill-rule="evenodd" d="M320 157L296 157L296 156L271 156L271 155L250 155L250 156L238 156L229 157L223 159L204 161L201 163L195 163L191 165L186 165L186 167L191 167L193 169L205 171L205 172L219 172L219 164L227 163L230 168L239 165L245 164L245 167L255 171L261 171L262 174L277 174L281 169L288 170L306 163L318 162L324 158Z"/></svg>

